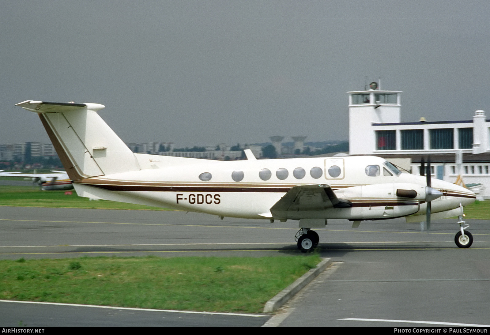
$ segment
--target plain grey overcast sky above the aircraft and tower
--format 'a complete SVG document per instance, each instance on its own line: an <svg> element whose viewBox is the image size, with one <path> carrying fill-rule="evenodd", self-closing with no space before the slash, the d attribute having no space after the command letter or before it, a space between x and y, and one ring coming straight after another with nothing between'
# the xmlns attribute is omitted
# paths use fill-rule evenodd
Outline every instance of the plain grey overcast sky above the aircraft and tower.
<svg viewBox="0 0 490 335"><path fill-rule="evenodd" d="M490 1L0 1L0 143L49 142L24 100L98 102L124 142L348 138L381 77L402 120L490 118Z"/></svg>

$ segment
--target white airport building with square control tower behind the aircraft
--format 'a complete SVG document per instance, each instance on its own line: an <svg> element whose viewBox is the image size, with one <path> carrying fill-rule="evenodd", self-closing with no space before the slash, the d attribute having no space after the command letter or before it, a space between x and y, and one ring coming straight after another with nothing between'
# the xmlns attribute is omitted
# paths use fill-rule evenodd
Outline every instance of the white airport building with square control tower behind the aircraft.
<svg viewBox="0 0 490 335"><path fill-rule="evenodd" d="M401 122L402 91L375 82L349 95L349 153L411 159L412 173L430 156L433 177L460 179L478 198L490 198L490 120L482 110L470 120ZM457 157L460 157L458 159Z"/></svg>

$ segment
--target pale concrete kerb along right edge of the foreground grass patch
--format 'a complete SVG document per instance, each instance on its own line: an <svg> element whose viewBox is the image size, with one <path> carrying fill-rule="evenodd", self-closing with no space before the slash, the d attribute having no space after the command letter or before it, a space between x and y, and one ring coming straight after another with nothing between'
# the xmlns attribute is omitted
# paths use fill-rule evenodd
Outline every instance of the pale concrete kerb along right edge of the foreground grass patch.
<svg viewBox="0 0 490 335"><path fill-rule="evenodd" d="M315 277L317 277L325 268L332 263L330 258L325 258L318 263L317 267L309 270L304 275L296 279L296 281L290 286L286 287L282 291L276 294L275 297L270 299L264 307L264 313L270 313L276 311L282 305L284 305L294 294L299 292L301 288L308 285Z"/></svg>

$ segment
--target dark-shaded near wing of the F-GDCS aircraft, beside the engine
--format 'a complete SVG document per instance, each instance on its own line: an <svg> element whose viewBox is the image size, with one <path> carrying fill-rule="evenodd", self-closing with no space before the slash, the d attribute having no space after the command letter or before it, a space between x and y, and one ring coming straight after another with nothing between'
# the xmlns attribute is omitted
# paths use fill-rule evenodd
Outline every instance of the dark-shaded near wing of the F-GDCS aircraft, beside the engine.
<svg viewBox="0 0 490 335"><path fill-rule="evenodd" d="M289 190L270 213L274 218L287 218L288 212L322 211L327 208L351 207L349 200L339 199L330 185L300 185Z"/></svg>

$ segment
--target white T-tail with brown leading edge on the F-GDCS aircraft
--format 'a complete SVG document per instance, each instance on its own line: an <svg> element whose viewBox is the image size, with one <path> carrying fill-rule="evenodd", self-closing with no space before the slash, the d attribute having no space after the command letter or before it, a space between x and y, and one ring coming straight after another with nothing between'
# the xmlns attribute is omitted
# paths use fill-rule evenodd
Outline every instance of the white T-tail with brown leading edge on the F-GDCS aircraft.
<svg viewBox="0 0 490 335"><path fill-rule="evenodd" d="M97 114L104 105L27 100L16 106L38 113L71 180L140 170L133 152Z"/></svg>

